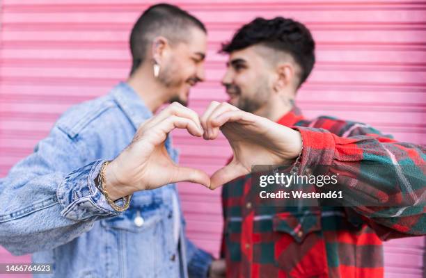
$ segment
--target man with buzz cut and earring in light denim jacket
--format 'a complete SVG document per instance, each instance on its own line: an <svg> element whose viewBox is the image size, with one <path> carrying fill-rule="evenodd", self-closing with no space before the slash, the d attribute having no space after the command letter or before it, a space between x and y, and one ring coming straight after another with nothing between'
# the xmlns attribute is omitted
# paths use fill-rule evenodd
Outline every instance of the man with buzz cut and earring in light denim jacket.
<svg viewBox="0 0 426 278"><path fill-rule="evenodd" d="M33 263L52 263L54 277L207 277L212 256L184 235L174 182L208 186L209 178L178 167L178 154L166 139L175 127L195 136L203 132L198 115L182 104L191 86L203 81L206 30L185 11L159 4L136 22L130 46L127 82L70 108L34 153L0 179L0 244L15 255L33 253ZM138 129L142 123L144 131ZM165 142L157 156L150 154L157 164L145 174L152 180L127 183L138 192L126 211L116 211L102 194L106 190L117 206L125 205L111 186L114 167L123 167L114 158L121 153L118 158L137 163L139 157L129 156L143 156L155 136ZM111 160L102 188L97 176Z"/></svg>

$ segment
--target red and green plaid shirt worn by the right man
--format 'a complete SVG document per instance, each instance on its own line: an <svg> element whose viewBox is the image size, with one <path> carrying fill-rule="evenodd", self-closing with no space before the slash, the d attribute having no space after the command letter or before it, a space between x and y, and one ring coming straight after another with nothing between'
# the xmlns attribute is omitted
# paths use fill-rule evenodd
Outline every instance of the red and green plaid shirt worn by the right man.
<svg viewBox="0 0 426 278"><path fill-rule="evenodd" d="M396 142L366 124L332 117L306 120L296 107L278 123L301 132L299 170L314 165L330 165L332 173L345 169L339 183L354 199L386 195L386 186L372 190L368 183L357 183L351 187L351 181L361 175L386 180L385 174L363 172L366 161L418 166L416 175L425 181L425 147ZM411 188L411 197L424 201L425 183ZM250 189L251 175L223 186L221 253L227 277L383 277L381 241L426 234L425 206L256 206Z"/></svg>

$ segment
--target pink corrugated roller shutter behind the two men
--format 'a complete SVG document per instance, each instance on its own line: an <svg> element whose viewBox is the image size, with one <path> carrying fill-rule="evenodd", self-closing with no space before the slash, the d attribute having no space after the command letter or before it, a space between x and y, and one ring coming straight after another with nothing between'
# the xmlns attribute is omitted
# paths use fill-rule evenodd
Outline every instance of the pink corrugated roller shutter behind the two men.
<svg viewBox="0 0 426 278"><path fill-rule="evenodd" d="M317 64L299 92L308 117L367 122L398 140L426 143L426 3L424 1L171 1L209 29L207 82L191 92L201 113L226 99L216 53L256 16L293 17L313 31ZM154 1L3 0L0 46L0 177L31 153L66 108L100 96L129 72L127 38ZM226 140L174 133L184 165L208 172L230 156ZM189 237L214 254L222 227L220 192L180 184ZM424 238L385 244L386 277L423 277ZM29 261L0 247L0 263ZM1 276L0 277L6 277ZM15 277L15 276L14 276Z"/></svg>

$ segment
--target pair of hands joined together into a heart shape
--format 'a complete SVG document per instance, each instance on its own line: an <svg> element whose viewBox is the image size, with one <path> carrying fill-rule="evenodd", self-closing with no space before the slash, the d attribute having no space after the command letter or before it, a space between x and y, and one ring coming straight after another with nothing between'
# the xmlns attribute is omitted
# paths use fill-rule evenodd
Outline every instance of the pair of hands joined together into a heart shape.
<svg viewBox="0 0 426 278"><path fill-rule="evenodd" d="M213 140L219 129L232 147L232 161L209 177L205 172L172 161L164 142L173 129ZM251 165L281 164L301 152L299 132L265 117L240 111L226 102L213 101L200 118L191 109L173 103L136 131L130 145L108 165L105 177L111 199L168 183L191 181L215 189L251 172Z"/></svg>

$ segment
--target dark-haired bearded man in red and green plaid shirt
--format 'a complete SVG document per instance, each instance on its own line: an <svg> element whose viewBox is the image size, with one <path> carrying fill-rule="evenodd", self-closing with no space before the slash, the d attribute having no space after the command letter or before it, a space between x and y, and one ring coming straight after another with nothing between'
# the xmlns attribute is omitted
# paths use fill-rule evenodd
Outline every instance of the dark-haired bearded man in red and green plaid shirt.
<svg viewBox="0 0 426 278"><path fill-rule="evenodd" d="M244 25L222 49L230 54L223 77L229 103L298 130L299 170L312 174L315 165L329 165L328 172L344 172L339 183L354 199L388 198L395 187L384 173L365 172L367 162L415 165L419 171L402 178L424 181L423 147L396 142L366 124L303 117L294 97L313 68L314 49L306 26L292 19L258 18ZM379 186L356 182L361 176L379 180ZM258 206L251 186L251 174L223 186L227 277L383 277L381 240L426 233L424 206Z"/></svg>

